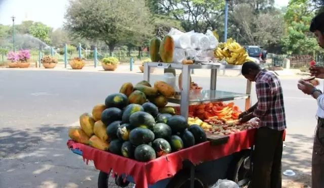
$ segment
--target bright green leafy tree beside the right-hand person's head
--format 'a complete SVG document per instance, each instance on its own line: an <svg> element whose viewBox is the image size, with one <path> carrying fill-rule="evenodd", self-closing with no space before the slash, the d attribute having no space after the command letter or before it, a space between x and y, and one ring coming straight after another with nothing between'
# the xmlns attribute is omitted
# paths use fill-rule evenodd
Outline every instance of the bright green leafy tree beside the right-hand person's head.
<svg viewBox="0 0 324 188"><path fill-rule="evenodd" d="M307 0L291 0L285 14L287 35L282 38L284 51L288 54L313 54L319 52L316 39L309 31L314 12L309 10Z"/></svg>

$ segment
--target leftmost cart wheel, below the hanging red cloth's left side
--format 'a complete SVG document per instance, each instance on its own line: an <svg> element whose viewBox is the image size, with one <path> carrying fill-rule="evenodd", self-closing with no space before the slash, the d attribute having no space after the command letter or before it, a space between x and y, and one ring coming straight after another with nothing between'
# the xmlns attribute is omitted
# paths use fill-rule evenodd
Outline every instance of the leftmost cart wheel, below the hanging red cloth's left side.
<svg viewBox="0 0 324 188"><path fill-rule="evenodd" d="M135 187L134 183L123 180L120 176L111 177L111 171L107 174L106 172L100 171L98 177L98 188L117 188L117 187Z"/></svg>

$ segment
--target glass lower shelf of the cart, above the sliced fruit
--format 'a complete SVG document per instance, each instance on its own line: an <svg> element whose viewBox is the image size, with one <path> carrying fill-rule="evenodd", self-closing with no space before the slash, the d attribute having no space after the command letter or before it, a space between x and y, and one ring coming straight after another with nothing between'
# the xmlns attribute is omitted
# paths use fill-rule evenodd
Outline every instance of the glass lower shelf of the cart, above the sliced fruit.
<svg viewBox="0 0 324 188"><path fill-rule="evenodd" d="M250 95L243 93L234 93L229 91L202 90L200 92L189 93L189 104L208 103L213 101L227 101L237 99L247 99ZM180 93L175 97L168 98L169 102L180 104Z"/></svg>

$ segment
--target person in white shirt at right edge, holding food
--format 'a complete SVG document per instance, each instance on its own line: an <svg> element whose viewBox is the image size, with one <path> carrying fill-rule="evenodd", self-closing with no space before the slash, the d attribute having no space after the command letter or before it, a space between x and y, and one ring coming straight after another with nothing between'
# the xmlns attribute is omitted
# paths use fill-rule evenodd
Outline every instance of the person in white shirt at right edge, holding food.
<svg viewBox="0 0 324 188"><path fill-rule="evenodd" d="M318 45L324 48L324 13L313 18L309 30L317 38ZM324 67L312 66L310 74L316 78L324 79ZM298 89L311 95L317 100L317 126L314 135L312 153L312 188L324 187L324 94L311 83L300 80Z"/></svg>

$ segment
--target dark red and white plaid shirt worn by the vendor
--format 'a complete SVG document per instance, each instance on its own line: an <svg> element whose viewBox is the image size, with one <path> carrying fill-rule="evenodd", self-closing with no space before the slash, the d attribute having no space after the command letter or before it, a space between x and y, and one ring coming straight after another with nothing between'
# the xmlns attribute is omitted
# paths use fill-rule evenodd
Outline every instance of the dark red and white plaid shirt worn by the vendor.
<svg viewBox="0 0 324 188"><path fill-rule="evenodd" d="M273 73L262 70L255 82L258 104L253 114L260 119L259 126L285 130L286 114L280 80Z"/></svg>

